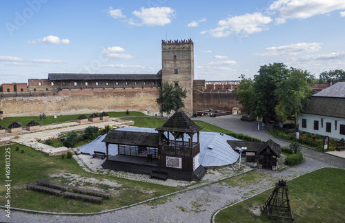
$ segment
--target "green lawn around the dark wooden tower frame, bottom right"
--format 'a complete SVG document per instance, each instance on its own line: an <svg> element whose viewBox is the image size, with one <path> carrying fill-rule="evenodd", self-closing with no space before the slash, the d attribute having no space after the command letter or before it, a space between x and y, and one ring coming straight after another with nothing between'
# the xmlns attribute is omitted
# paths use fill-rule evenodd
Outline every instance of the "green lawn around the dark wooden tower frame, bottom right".
<svg viewBox="0 0 345 223"><path fill-rule="evenodd" d="M250 174L257 173L247 173L247 176L230 178L226 182L248 183ZM324 168L286 183L295 222L345 222L345 170ZM272 191L273 189L268 190L220 211L215 222L276 222L268 219L266 210L259 216L250 211L257 206L263 206Z"/></svg>

